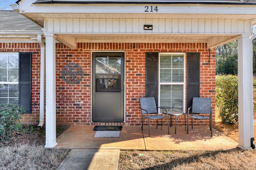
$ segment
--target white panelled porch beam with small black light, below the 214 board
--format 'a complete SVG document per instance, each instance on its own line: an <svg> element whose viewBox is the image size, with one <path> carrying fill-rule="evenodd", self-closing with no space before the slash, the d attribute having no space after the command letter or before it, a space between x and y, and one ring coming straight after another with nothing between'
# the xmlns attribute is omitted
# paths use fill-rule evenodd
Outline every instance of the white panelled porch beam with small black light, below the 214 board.
<svg viewBox="0 0 256 170"><path fill-rule="evenodd" d="M152 30L144 30L144 25ZM158 34L158 35L210 35L237 36L251 33L250 20L199 20L199 19L53 19L44 20L45 33L60 35L83 34ZM129 38L127 38L129 39Z"/></svg>

